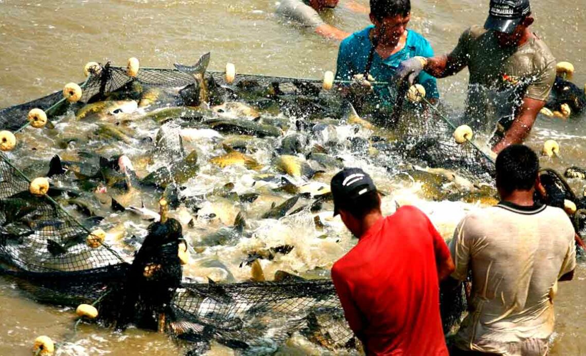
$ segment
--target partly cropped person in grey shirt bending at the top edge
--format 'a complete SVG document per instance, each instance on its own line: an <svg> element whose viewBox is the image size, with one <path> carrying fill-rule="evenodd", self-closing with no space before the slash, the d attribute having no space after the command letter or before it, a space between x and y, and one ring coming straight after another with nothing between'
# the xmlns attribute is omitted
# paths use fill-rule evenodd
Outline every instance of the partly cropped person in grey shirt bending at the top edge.
<svg viewBox="0 0 586 356"><path fill-rule="evenodd" d="M338 6L339 0L282 0L277 8L277 14L295 20L302 26L311 27L320 36L330 39L343 40L350 33L340 30L323 21L320 13ZM346 5L347 9L355 12L367 12L353 0Z"/></svg>

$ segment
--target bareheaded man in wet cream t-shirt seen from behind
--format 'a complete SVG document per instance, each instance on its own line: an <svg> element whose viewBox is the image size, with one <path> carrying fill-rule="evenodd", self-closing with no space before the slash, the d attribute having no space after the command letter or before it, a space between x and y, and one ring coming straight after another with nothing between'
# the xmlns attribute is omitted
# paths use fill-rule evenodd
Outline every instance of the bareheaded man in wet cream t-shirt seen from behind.
<svg viewBox="0 0 586 356"><path fill-rule="evenodd" d="M469 313L453 355L545 355L553 333L558 281L574 275L574 228L560 208L539 205L533 192L539 158L512 145L496 158L500 203L458 224L450 250L452 278L472 271Z"/></svg>

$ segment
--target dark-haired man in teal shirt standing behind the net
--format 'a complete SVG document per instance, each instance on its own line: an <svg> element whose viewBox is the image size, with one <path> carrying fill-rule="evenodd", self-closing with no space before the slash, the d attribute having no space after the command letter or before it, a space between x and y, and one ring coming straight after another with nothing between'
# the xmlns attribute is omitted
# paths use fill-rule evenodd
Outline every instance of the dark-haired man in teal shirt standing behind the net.
<svg viewBox="0 0 586 356"><path fill-rule="evenodd" d="M378 82L391 82L401 61L434 55L430 43L421 34L407 30L411 19L410 0L370 0L369 16L373 25L353 33L340 44L336 67L336 80L363 77L347 88L348 95L362 99L373 98L369 83L364 82L369 76ZM417 82L425 88L427 98L440 96L431 75L421 72ZM386 85L374 86L374 93L375 101L384 105L394 102Z"/></svg>

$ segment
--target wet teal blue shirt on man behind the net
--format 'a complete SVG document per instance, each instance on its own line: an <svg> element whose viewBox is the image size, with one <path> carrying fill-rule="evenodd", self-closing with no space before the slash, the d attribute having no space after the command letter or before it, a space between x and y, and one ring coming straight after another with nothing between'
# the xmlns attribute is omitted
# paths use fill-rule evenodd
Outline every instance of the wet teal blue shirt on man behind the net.
<svg viewBox="0 0 586 356"><path fill-rule="evenodd" d="M369 33L374 26L368 26L366 29L355 32L346 37L340 44L338 51L338 65L336 68L336 80L352 80L353 75L364 74L366 62L368 61L372 42L370 42ZM395 71L399 64L408 58L422 56L433 57L434 50L427 40L421 34L408 30L407 42L405 47L383 60L376 51L374 52L370 75L378 82L392 82ZM417 82L425 88L427 98L439 98L437 82L434 77L421 72L417 77ZM382 102L394 102L391 92L386 86L375 86L374 91Z"/></svg>

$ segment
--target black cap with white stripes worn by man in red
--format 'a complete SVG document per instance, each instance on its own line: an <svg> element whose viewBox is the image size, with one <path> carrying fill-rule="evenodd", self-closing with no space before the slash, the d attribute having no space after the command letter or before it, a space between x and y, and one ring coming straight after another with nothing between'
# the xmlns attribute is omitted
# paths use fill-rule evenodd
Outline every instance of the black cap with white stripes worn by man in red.
<svg viewBox="0 0 586 356"><path fill-rule="evenodd" d="M333 216L339 214L338 209L351 206L364 193L377 191L370 175L360 168L344 168L333 176L330 185L333 196Z"/></svg>

